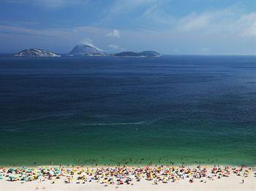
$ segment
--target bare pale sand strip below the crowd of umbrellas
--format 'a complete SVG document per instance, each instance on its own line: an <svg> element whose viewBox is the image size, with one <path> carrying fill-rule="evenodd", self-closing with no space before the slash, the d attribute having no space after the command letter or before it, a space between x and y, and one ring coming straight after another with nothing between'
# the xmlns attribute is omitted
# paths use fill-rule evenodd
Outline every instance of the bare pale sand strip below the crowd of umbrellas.
<svg viewBox="0 0 256 191"><path fill-rule="evenodd" d="M244 179L244 184L241 184L242 179ZM189 179L180 180L178 182L172 183L159 183L154 185L152 181L142 180L141 182L134 182L134 185L109 185L104 187L103 184L97 182L86 182L86 184L76 184L72 182L70 184L65 184L62 179L58 180L55 184L51 184L50 181L45 182L8 182L5 180L0 180L0 191L34 191L34 190L44 190L44 191L80 191L80 190L195 190L195 191L206 191L206 190L252 190L256 191L256 177L250 174L249 177L244 178L243 176L236 176L231 174L230 177L222 177L214 180L206 180L206 183L200 182L199 179L195 179L194 183L189 183ZM37 189L38 187L38 189ZM42 189L45 187L45 189Z"/></svg>

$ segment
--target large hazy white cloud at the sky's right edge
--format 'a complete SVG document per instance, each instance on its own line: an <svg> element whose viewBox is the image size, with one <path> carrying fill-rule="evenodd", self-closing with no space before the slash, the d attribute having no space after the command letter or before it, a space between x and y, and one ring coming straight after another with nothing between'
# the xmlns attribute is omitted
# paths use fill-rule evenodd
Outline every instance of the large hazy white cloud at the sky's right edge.
<svg viewBox="0 0 256 191"><path fill-rule="evenodd" d="M192 13L177 20L177 31L187 34L256 36L256 12L240 13L237 7Z"/></svg>

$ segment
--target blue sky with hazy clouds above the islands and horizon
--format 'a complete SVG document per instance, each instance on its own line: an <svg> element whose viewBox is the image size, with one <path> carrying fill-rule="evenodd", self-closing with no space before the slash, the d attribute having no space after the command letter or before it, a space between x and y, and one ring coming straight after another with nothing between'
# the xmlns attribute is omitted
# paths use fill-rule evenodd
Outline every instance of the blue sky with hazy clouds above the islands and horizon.
<svg viewBox="0 0 256 191"><path fill-rule="evenodd" d="M0 0L0 52L256 55L256 1Z"/></svg>

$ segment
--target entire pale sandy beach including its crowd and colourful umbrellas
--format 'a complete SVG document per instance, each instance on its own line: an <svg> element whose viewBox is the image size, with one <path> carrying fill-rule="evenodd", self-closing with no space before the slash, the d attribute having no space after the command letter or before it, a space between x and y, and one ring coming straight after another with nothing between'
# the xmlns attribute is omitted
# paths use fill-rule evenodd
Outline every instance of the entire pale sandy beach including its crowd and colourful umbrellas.
<svg viewBox="0 0 256 191"><path fill-rule="evenodd" d="M1 191L256 190L255 168L244 166L9 167L0 177Z"/></svg>

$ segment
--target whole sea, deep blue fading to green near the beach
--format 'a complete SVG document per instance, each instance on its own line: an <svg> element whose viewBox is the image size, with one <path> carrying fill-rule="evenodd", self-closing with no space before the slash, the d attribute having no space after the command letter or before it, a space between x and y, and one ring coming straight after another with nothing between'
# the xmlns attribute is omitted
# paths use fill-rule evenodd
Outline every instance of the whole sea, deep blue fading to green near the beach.
<svg viewBox="0 0 256 191"><path fill-rule="evenodd" d="M0 164L256 164L256 57L0 58Z"/></svg>

